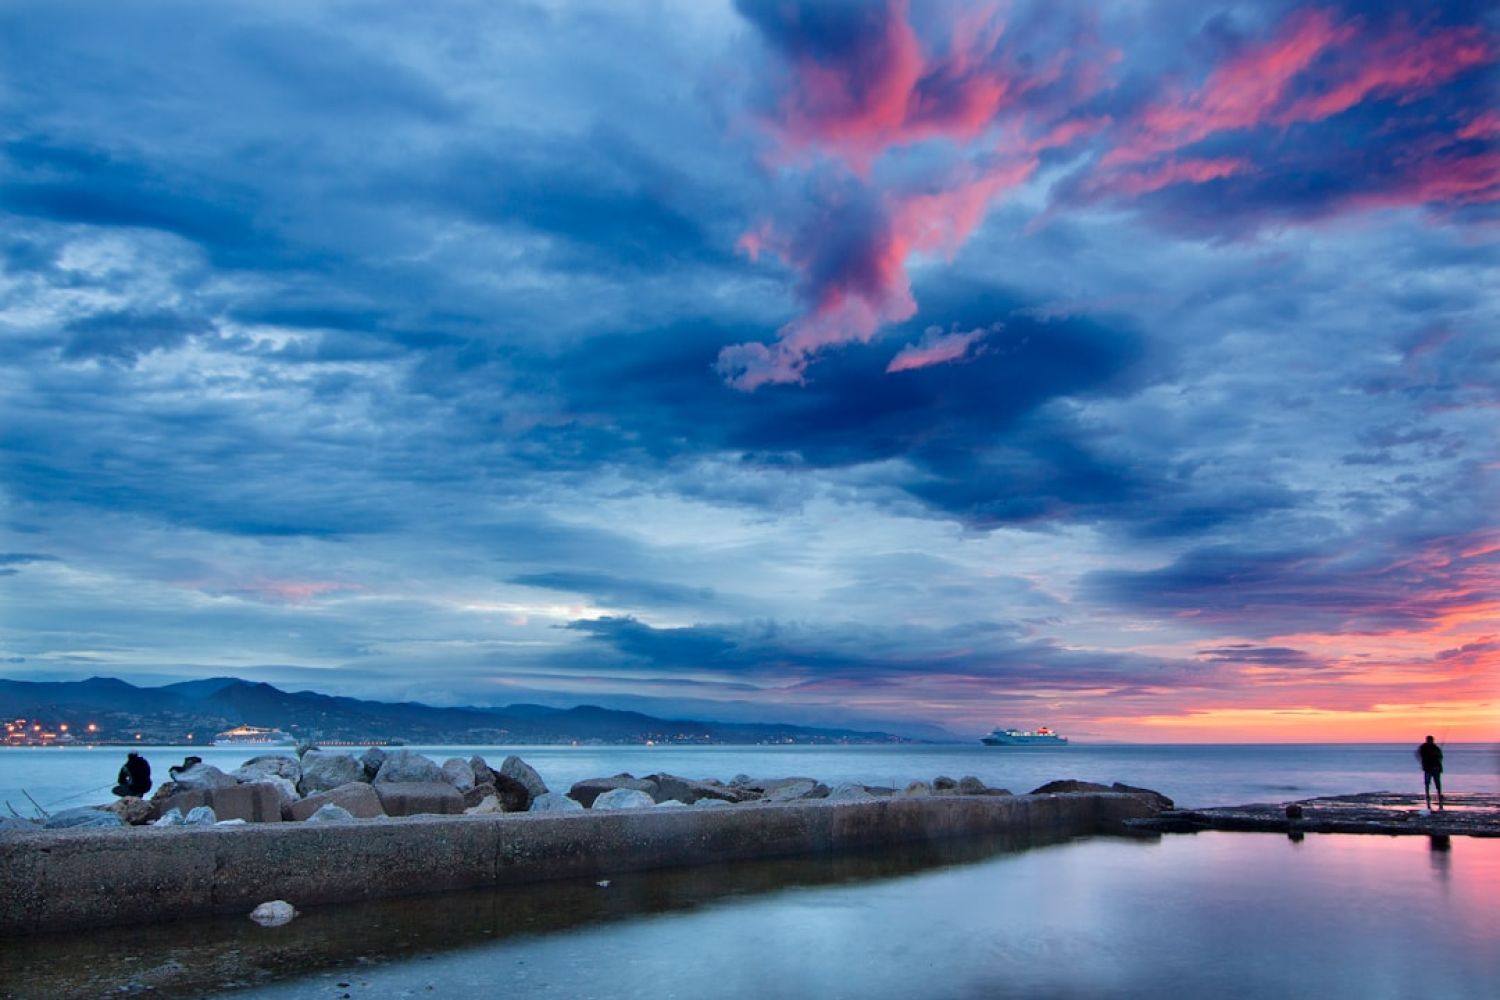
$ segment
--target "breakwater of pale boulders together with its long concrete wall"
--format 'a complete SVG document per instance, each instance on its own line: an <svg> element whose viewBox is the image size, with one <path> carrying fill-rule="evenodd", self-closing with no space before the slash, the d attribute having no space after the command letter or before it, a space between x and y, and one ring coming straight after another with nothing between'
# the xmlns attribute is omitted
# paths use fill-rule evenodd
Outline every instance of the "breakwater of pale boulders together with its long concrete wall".
<svg viewBox="0 0 1500 1000"><path fill-rule="evenodd" d="M411 751L309 750L256 757L234 774L200 766L183 768L159 799L92 810L123 829L4 825L0 937L248 915L268 900L302 910L958 838L1024 847L1119 831L1161 808L1155 793L1136 789L1011 795L948 777L894 789L830 787L804 777L621 774L562 793L519 757L496 769L482 759L438 763ZM236 798L246 795L272 796L278 810ZM216 805L256 816L220 819ZM124 826L122 813L146 807L154 820Z"/></svg>

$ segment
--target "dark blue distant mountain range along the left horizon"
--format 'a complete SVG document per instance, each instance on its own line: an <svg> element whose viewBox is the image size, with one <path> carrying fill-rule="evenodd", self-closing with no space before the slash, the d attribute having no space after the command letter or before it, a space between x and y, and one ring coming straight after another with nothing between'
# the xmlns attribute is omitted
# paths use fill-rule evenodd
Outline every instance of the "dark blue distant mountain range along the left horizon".
<svg viewBox="0 0 1500 1000"><path fill-rule="evenodd" d="M198 742L234 726L280 729L309 741L400 741L408 744L886 744L914 742L890 733L816 729L777 723L663 720L640 712L580 705L435 708L417 702L364 702L270 684L212 678L140 688L116 678L34 682L0 679L0 721L26 718L82 739Z"/></svg>

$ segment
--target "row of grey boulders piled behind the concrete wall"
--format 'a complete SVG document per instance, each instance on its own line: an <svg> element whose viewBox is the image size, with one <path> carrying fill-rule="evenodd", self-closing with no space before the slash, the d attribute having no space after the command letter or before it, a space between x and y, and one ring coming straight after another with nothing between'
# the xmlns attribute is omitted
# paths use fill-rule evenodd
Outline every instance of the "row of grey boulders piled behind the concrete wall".
<svg viewBox="0 0 1500 1000"><path fill-rule="evenodd" d="M720 808L800 801L873 802L930 796L1008 796L980 778L912 781L903 789L866 784L832 787L804 777L753 778L736 775L682 778L632 774L586 778L567 792L554 792L542 775L516 756L492 768L483 757L450 757L441 763L411 750L372 747L352 753L300 747L294 754L260 754L232 772L189 759L171 769L150 799L124 796L114 802L66 810L36 819L6 817L0 834L36 829L124 826L214 826L236 823L327 823L408 816L492 816L510 813L570 813L584 810ZM1148 796L1155 808L1172 808L1164 796L1130 786L1060 781L1035 793L1124 792Z"/></svg>

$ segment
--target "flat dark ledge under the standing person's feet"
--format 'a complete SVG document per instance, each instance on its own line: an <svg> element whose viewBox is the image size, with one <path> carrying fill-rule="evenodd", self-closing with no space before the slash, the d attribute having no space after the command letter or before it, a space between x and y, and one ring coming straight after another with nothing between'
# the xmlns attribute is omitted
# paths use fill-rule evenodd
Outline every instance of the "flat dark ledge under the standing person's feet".
<svg viewBox="0 0 1500 1000"><path fill-rule="evenodd" d="M1131 829L1156 834L1242 831L1252 834L1383 834L1419 837L1500 837L1500 796L1456 793L1444 810L1426 811L1419 795L1366 792L1299 802L1167 810L1131 820ZM1288 817L1288 807L1300 813Z"/></svg>

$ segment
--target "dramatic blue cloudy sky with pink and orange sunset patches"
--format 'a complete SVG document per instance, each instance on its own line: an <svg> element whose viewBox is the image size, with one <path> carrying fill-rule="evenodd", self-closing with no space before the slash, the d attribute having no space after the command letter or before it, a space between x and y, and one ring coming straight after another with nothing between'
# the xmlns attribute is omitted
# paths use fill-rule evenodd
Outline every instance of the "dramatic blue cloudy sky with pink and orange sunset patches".
<svg viewBox="0 0 1500 1000"><path fill-rule="evenodd" d="M12 0L0 676L1500 739L1497 52L1482 3Z"/></svg>

